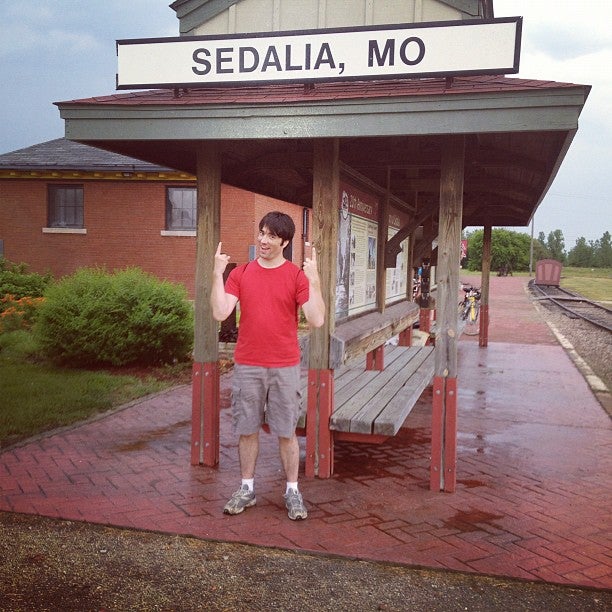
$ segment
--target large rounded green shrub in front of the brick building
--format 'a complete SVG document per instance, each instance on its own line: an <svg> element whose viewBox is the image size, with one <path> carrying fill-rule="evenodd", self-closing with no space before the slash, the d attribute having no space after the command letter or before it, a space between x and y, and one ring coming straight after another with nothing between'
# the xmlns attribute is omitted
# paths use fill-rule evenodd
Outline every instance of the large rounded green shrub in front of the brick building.
<svg viewBox="0 0 612 612"><path fill-rule="evenodd" d="M34 333L66 365L171 363L189 356L193 311L183 287L137 268L84 268L49 287Z"/></svg>

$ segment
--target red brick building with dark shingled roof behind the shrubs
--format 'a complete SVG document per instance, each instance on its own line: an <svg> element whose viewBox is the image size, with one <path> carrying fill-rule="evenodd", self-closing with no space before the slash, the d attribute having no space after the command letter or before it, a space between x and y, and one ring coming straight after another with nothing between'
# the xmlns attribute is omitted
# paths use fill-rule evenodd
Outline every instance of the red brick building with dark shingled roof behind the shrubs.
<svg viewBox="0 0 612 612"><path fill-rule="evenodd" d="M228 185L221 201L232 261L253 257L259 220L282 210L301 262L305 209ZM138 266L193 297L196 210L194 176L64 138L0 155L0 255L35 272Z"/></svg>

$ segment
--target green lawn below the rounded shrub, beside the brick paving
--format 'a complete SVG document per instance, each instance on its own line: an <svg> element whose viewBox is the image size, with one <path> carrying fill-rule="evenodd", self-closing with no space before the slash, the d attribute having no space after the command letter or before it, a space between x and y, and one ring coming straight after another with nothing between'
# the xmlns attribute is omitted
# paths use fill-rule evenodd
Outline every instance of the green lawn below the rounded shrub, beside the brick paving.
<svg viewBox="0 0 612 612"><path fill-rule="evenodd" d="M154 375L74 370L36 361L31 335L0 335L0 449L172 384ZM153 371L153 374L155 371Z"/></svg>

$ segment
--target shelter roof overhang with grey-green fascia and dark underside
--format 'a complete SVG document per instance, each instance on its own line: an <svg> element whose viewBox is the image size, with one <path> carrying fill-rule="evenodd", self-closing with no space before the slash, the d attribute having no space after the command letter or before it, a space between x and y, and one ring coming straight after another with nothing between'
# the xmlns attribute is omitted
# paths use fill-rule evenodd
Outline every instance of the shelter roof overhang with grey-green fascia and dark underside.
<svg viewBox="0 0 612 612"><path fill-rule="evenodd" d="M222 141L222 180L311 205L312 139L408 208L435 204L445 136L466 136L463 225L527 225L590 87L505 77L151 91L58 103L66 137L194 173Z"/></svg>

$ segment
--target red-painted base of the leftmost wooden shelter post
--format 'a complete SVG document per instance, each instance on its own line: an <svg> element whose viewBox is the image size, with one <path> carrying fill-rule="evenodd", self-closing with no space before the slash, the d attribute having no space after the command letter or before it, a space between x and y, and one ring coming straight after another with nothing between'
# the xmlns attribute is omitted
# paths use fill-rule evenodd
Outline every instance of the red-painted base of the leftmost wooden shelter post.
<svg viewBox="0 0 612 612"><path fill-rule="evenodd" d="M193 364L191 465L219 463L219 363Z"/></svg>

